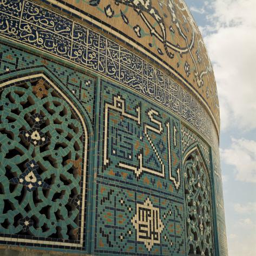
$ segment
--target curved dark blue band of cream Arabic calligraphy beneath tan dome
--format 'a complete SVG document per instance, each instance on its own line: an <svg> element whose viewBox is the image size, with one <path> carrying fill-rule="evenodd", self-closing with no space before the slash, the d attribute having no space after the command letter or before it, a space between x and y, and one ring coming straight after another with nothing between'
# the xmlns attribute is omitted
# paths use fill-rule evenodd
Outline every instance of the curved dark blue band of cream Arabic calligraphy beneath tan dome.
<svg viewBox="0 0 256 256"><path fill-rule="evenodd" d="M206 110L159 69L106 37L29 1L0 5L1 36L28 44L110 77L172 110L212 143Z"/></svg>

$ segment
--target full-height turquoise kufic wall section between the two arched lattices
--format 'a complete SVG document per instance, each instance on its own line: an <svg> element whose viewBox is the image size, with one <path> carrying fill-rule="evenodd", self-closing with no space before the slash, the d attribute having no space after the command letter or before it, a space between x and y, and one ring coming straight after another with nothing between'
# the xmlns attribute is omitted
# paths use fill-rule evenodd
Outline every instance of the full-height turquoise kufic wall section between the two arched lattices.
<svg viewBox="0 0 256 256"><path fill-rule="evenodd" d="M96 253L185 255L180 122L101 81Z"/></svg>

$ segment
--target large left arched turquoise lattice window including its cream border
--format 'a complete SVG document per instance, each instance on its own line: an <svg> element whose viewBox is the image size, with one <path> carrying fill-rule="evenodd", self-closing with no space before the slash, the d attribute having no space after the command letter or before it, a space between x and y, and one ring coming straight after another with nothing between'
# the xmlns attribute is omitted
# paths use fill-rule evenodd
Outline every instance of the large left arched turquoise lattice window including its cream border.
<svg viewBox="0 0 256 256"><path fill-rule="evenodd" d="M43 74L2 81L0 98L0 240L82 248L84 117Z"/></svg>

